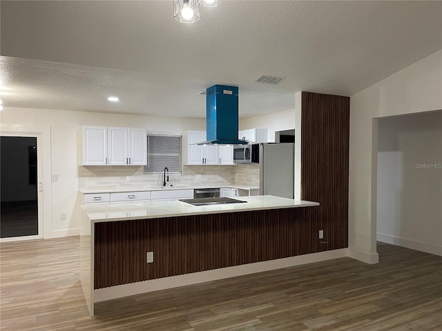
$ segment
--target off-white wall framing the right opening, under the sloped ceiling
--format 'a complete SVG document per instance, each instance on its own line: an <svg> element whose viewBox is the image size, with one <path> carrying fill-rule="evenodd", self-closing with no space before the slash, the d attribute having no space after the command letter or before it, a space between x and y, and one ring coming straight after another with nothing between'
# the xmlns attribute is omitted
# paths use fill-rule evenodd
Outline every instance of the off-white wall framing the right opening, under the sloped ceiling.
<svg viewBox="0 0 442 331"><path fill-rule="evenodd" d="M374 118L440 109L442 50L350 98L349 248L353 257L369 263L378 261Z"/></svg>

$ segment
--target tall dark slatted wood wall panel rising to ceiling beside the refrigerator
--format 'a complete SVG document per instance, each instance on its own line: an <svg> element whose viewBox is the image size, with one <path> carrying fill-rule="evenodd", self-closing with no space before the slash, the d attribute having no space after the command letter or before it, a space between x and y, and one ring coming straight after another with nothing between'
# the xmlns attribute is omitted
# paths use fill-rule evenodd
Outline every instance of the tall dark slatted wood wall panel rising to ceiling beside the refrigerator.
<svg viewBox="0 0 442 331"><path fill-rule="evenodd" d="M315 225L326 243L348 246L349 97L302 92L301 199L317 201Z"/></svg>

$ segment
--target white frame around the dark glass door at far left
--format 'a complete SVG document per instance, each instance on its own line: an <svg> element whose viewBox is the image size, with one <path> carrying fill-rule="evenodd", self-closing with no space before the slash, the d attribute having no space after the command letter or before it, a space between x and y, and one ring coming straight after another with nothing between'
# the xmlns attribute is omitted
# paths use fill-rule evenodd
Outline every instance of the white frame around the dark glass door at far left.
<svg viewBox="0 0 442 331"><path fill-rule="evenodd" d="M39 222L39 232L36 236L1 238L0 242L48 238L52 232L50 126L0 124L0 135L4 137L37 138L37 205ZM40 183L42 185L41 192L39 190Z"/></svg>

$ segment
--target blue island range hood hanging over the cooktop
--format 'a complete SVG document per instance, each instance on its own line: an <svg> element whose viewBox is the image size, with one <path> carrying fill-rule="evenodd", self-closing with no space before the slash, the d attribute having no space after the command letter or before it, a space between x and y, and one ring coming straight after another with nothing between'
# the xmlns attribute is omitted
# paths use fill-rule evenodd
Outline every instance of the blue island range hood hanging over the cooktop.
<svg viewBox="0 0 442 331"><path fill-rule="evenodd" d="M206 89L206 139L198 145L247 145L238 139L238 86Z"/></svg>

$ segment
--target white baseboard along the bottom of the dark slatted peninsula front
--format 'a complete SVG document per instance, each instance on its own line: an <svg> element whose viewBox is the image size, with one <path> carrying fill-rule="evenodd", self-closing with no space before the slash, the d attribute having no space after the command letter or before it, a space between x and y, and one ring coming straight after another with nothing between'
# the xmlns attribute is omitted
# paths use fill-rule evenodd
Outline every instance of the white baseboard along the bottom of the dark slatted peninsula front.
<svg viewBox="0 0 442 331"><path fill-rule="evenodd" d="M237 277L244 274L288 268L306 263L338 259L340 257L348 257L347 248L298 255L296 257L287 257L285 259L236 265L228 268L194 272L192 274L180 274L179 276L152 279L151 281L139 281L137 283L111 286L110 288L100 288L94 290L94 302L107 301L157 290L166 290L168 288L177 288L185 285L205 283L207 281L216 281L218 279Z"/></svg>

